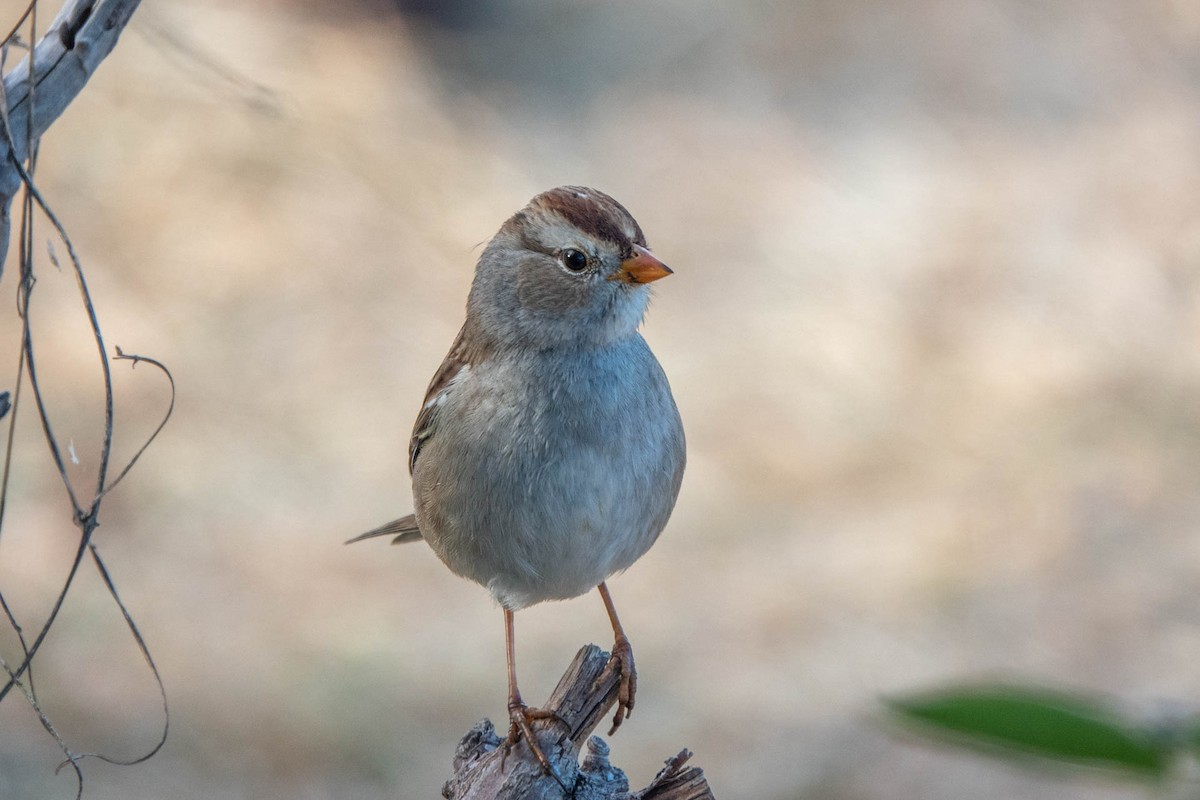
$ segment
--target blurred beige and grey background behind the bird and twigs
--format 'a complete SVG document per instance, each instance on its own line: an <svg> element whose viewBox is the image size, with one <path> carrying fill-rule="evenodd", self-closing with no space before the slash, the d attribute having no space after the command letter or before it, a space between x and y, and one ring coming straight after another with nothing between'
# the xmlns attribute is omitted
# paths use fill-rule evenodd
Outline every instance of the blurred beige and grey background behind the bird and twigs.
<svg viewBox="0 0 1200 800"><path fill-rule="evenodd" d="M478 245L560 184L617 197L676 270L646 336L689 470L611 582L635 787L688 746L721 800L1135 798L894 735L878 698L1003 675L1200 709L1194 2L146 2L38 176L109 349L179 389L96 539L170 736L85 763L90 800L436 798L460 736L504 718L486 593L424 546L342 541L410 511ZM86 487L95 345L71 272L38 271ZM122 463L168 391L114 371ZM14 446L0 588L36 628L78 534L31 403ZM534 703L611 643L596 596L517 634ZM36 684L77 750L157 736L88 565ZM0 704L0 796L73 796L60 758Z"/></svg>

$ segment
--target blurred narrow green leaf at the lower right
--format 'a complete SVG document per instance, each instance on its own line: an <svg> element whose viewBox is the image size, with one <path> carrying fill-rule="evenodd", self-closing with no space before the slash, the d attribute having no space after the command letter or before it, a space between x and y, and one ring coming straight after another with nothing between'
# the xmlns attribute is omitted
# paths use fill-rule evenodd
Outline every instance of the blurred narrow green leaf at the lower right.
<svg viewBox="0 0 1200 800"><path fill-rule="evenodd" d="M943 688L886 700L901 720L955 744L1162 776L1168 742L1090 698L1036 686Z"/></svg>

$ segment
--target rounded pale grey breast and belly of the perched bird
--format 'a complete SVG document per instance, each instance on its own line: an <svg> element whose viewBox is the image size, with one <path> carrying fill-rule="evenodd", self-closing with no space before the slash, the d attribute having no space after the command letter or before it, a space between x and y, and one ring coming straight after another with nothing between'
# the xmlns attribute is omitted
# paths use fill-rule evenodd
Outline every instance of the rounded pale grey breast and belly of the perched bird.
<svg viewBox="0 0 1200 800"><path fill-rule="evenodd" d="M578 399L572 392L487 391L481 378L482 390L448 402L414 469L418 521L433 551L511 609L575 597L629 567L666 525L683 475L683 427L666 381L594 403L578 421L560 407ZM576 422L554 421L565 419Z"/></svg>

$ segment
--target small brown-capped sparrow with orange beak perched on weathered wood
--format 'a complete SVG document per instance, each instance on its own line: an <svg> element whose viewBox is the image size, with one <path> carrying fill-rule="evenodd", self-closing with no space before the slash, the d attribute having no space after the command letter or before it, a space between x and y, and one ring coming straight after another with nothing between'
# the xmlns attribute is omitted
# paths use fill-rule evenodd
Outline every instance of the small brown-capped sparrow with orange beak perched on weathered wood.
<svg viewBox="0 0 1200 800"><path fill-rule="evenodd" d="M514 213L479 257L466 321L416 415L414 512L349 540L424 540L491 593L504 614L505 752L523 738L547 774L530 721L553 715L521 697L514 614L599 591L616 733L637 673L606 581L658 540L686 462L671 386L638 332L649 284L668 275L604 192L560 186Z"/></svg>

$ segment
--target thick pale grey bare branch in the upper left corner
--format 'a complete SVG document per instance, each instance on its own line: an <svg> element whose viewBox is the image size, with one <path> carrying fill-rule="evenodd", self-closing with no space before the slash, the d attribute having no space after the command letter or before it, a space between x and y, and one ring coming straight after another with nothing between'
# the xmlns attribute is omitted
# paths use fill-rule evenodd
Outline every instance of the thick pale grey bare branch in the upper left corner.
<svg viewBox="0 0 1200 800"><path fill-rule="evenodd" d="M59 119L113 48L140 0L66 0L32 52L4 79L0 130L0 273L12 229L10 207L20 188L18 164L31 143Z"/></svg>

